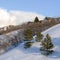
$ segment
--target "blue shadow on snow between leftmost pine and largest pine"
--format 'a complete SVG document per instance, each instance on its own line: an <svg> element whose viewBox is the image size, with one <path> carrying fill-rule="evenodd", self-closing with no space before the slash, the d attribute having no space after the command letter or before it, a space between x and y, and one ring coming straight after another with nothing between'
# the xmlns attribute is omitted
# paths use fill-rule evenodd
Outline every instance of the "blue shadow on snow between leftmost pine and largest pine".
<svg viewBox="0 0 60 60"><path fill-rule="evenodd" d="M22 51L25 54L33 54L33 55L39 55L40 49L38 47L30 47L25 49L23 46L17 47L18 50Z"/></svg>

